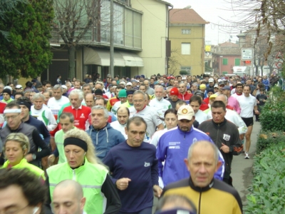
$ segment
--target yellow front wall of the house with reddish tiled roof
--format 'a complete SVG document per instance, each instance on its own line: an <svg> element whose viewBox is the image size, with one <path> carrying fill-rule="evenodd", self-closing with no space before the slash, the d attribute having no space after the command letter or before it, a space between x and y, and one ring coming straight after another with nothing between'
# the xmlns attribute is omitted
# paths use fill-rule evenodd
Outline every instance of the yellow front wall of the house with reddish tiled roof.
<svg viewBox="0 0 285 214"><path fill-rule="evenodd" d="M182 29L191 29L191 33L182 34ZM191 75L204 73L204 25L170 25L170 40L172 57L178 61L176 75L179 74L180 66L191 66ZM182 43L191 44L190 55L181 54Z"/></svg>

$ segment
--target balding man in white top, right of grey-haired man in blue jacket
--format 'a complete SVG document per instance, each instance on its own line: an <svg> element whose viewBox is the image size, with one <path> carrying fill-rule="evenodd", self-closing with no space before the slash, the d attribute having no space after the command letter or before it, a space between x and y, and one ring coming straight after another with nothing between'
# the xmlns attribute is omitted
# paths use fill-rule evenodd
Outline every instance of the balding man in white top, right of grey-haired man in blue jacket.
<svg viewBox="0 0 285 214"><path fill-rule="evenodd" d="M110 123L110 125L116 130L120 131L125 140L127 140L128 136L125 134L125 126L127 125L127 121L130 118L130 110L125 106L120 106L117 111L118 121L114 121Z"/></svg>

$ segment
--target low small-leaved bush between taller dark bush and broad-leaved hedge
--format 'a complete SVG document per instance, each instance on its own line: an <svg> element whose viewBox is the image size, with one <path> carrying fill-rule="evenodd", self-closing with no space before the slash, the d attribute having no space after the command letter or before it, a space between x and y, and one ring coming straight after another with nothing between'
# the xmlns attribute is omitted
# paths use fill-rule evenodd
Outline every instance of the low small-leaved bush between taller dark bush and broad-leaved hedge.
<svg viewBox="0 0 285 214"><path fill-rule="evenodd" d="M267 136L267 139L265 139L264 136ZM270 146L274 146L282 142L285 142L285 135L282 131L272 132L261 130L257 138L257 154Z"/></svg>

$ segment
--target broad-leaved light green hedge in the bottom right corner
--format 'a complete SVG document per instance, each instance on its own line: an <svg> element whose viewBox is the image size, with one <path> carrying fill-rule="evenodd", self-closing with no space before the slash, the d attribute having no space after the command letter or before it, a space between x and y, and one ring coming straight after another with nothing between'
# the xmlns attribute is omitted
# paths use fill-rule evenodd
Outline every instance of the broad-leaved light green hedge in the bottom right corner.
<svg viewBox="0 0 285 214"><path fill-rule="evenodd" d="M285 213L285 142L271 144L254 157L254 179L244 213Z"/></svg>

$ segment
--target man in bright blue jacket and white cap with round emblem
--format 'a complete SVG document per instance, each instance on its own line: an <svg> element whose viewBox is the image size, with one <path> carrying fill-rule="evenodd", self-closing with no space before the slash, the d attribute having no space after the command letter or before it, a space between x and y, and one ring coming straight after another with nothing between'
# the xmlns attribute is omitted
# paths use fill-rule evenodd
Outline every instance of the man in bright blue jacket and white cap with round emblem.
<svg viewBox="0 0 285 214"><path fill-rule="evenodd" d="M192 143L197 141L214 143L206 133L193 128L195 112L191 106L181 106L177 111L177 118L177 128L172 128L164 133L157 144L156 156L161 187L183 178L189 178L190 173L185 166L184 160L187 159L187 151ZM162 165L163 161L165 161L164 166ZM222 180L224 158L221 153L219 153L219 161L222 161L222 167L217 170L214 178Z"/></svg>

